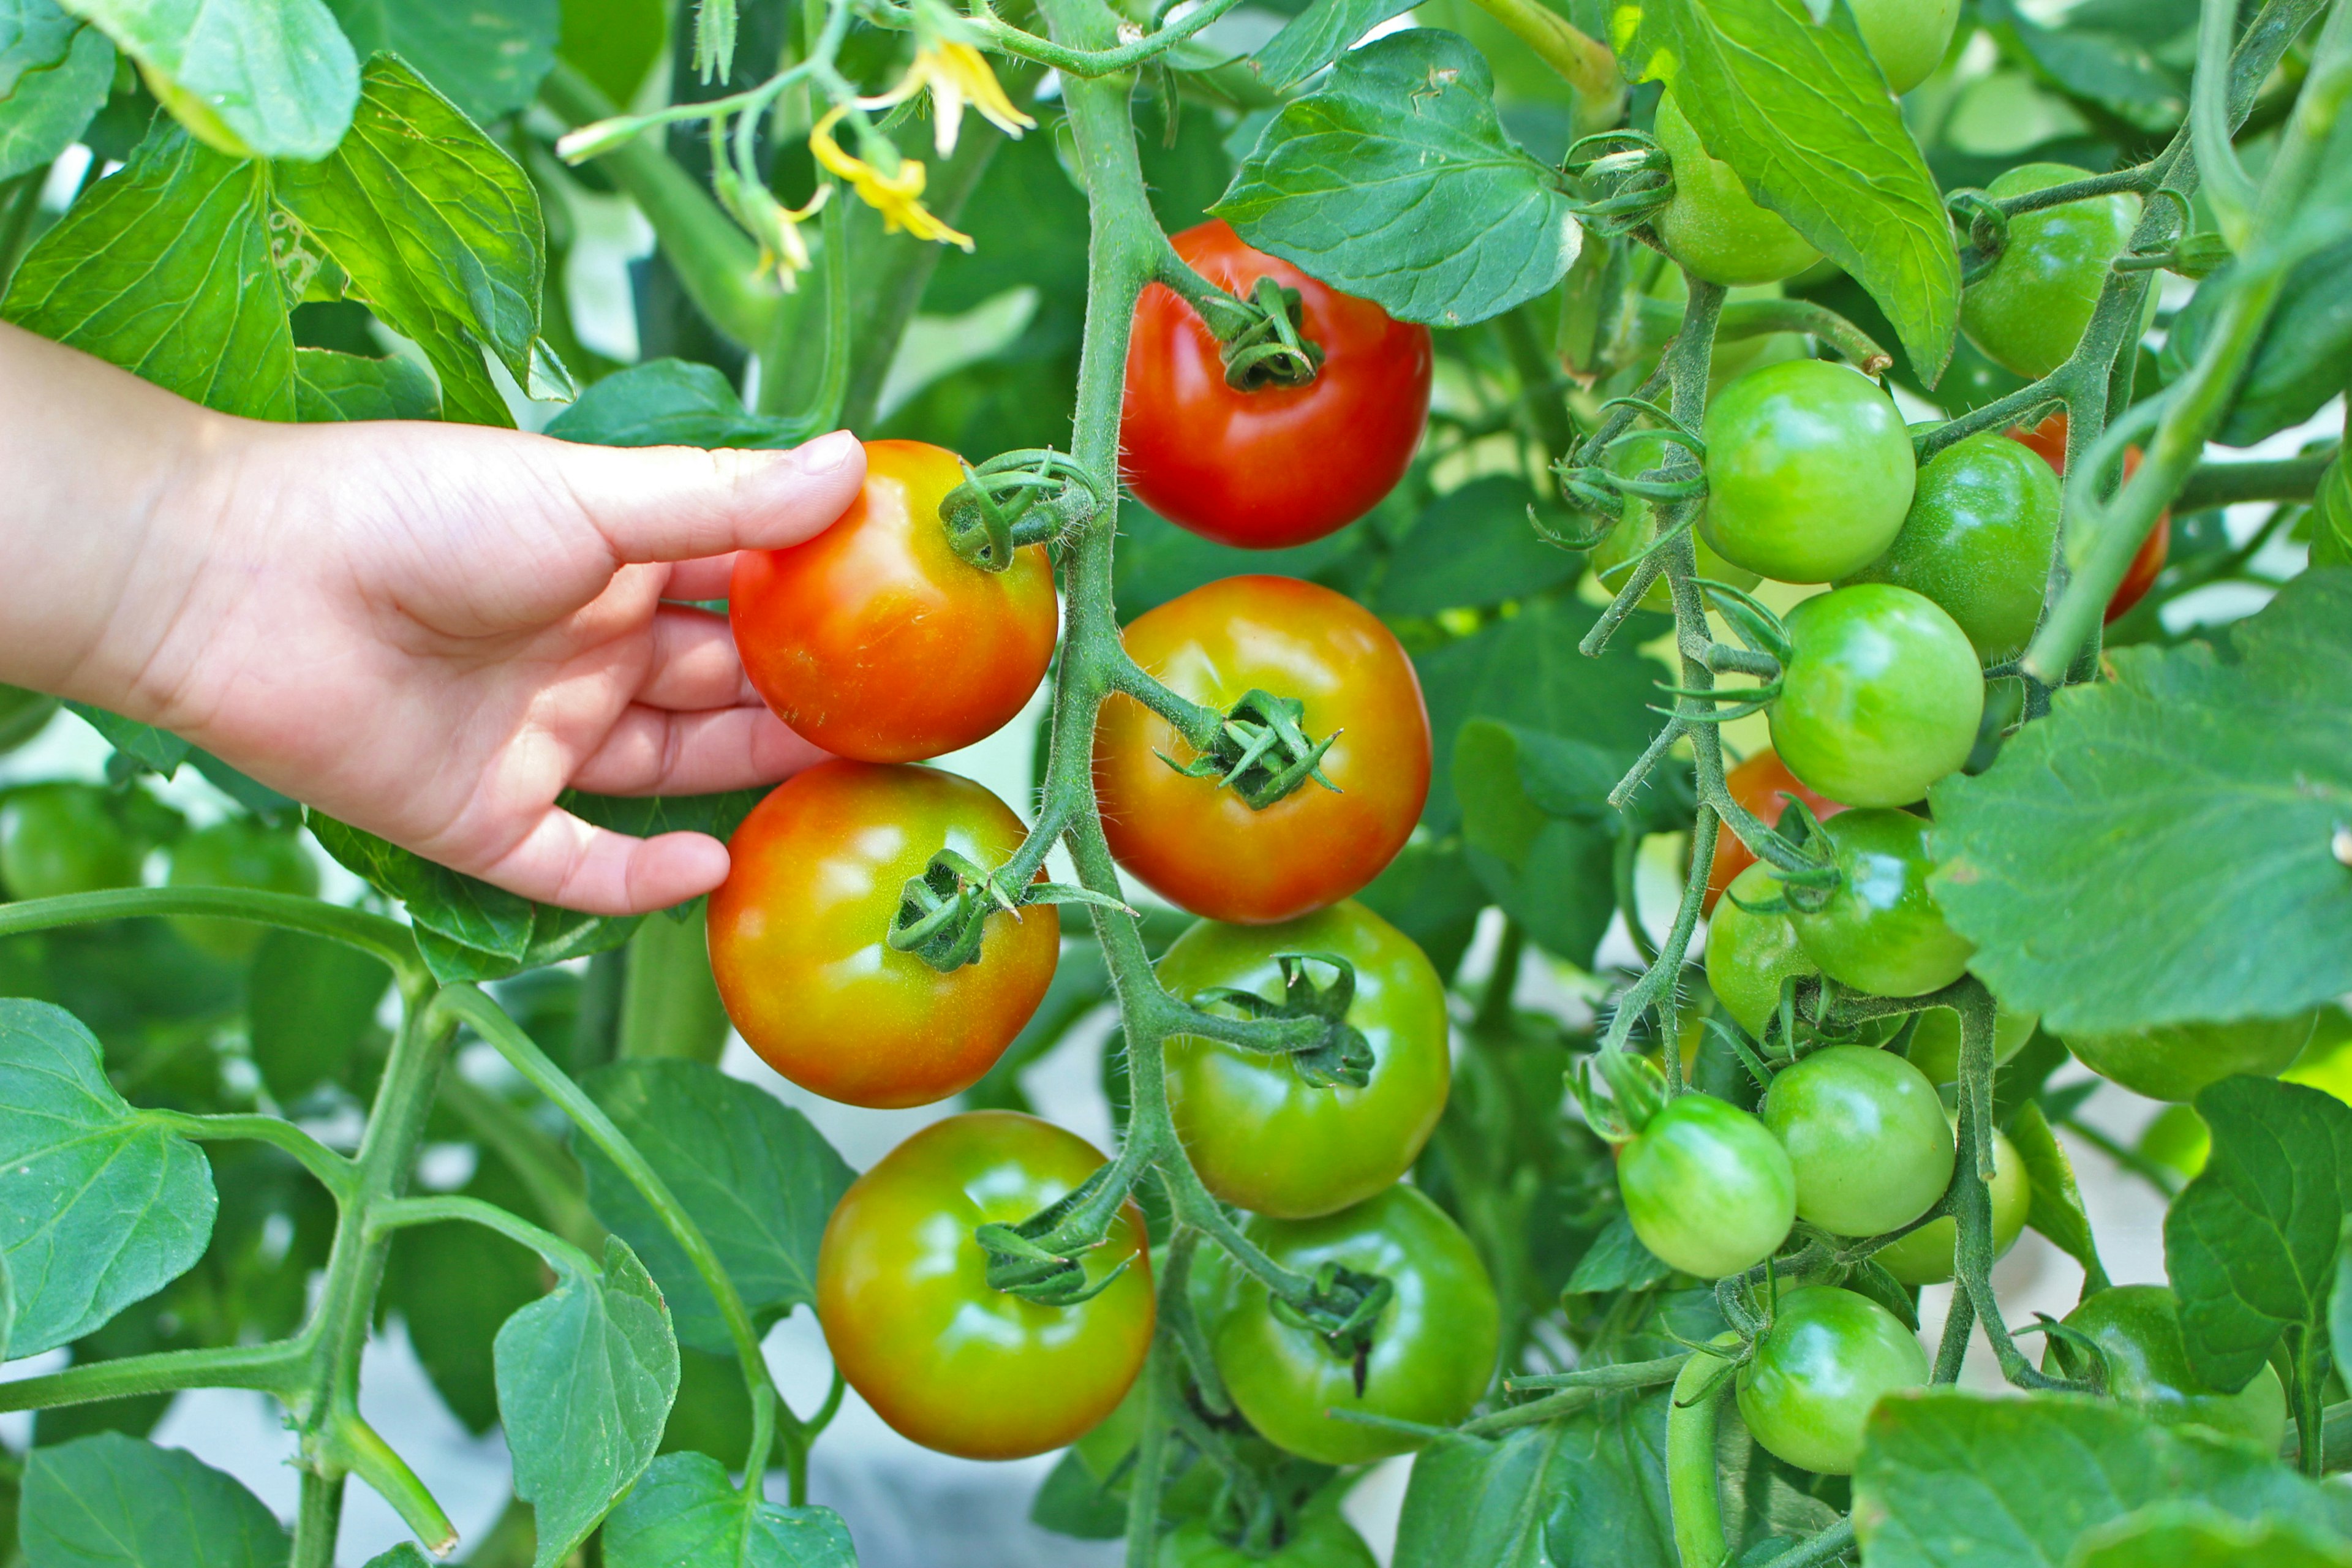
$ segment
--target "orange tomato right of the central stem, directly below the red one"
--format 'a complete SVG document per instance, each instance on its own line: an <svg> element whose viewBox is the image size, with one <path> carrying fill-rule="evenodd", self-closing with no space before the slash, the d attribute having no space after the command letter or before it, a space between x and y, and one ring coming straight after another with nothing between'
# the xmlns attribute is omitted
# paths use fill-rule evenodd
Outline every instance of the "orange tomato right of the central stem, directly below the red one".
<svg viewBox="0 0 2352 1568"><path fill-rule="evenodd" d="M1404 849L1430 795L1430 715L1397 637L1343 595L1279 576L1195 588L1136 616L1127 651L1178 696L1223 712L1263 689L1298 698L1322 771L1265 811L1192 762L1176 726L1131 696L1103 703L1094 783L1120 865L1169 903L1256 926L1348 898Z"/></svg>

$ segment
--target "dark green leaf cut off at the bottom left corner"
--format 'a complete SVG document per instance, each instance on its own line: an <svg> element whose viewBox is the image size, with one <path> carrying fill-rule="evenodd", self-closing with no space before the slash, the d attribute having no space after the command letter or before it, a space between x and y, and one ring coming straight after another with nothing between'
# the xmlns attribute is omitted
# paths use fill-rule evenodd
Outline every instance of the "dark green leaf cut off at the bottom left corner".
<svg viewBox="0 0 2352 1568"><path fill-rule="evenodd" d="M31 1568L280 1568L289 1547L235 1476L120 1432L35 1448L19 1530Z"/></svg>

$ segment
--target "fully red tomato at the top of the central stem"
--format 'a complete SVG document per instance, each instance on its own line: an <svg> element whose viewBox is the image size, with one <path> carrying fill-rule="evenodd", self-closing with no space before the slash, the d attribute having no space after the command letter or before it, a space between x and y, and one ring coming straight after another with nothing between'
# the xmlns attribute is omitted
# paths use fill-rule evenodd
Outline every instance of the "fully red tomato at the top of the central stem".
<svg viewBox="0 0 2352 1568"><path fill-rule="evenodd" d="M1120 421L1120 475L1136 501L1242 550L1303 545L1376 508L1430 414L1430 329L1251 249L1223 219L1169 242L1228 294L1247 299L1258 277L1298 289L1301 334L1324 360L1305 386L1230 388L1192 306L1167 284L1143 289Z"/></svg>

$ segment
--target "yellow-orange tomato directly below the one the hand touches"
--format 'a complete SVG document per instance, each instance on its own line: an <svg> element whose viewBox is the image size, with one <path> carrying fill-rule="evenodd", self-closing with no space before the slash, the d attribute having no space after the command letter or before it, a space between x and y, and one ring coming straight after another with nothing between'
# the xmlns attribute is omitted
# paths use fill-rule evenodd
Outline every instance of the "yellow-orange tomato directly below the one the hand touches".
<svg viewBox="0 0 2352 1568"><path fill-rule="evenodd" d="M769 1067L847 1105L969 1088L1037 1011L1061 957L1051 910L988 917L978 964L941 973L884 945L898 891L941 849L1004 865L1021 818L955 773L821 762L762 799L710 893L710 973Z"/></svg>

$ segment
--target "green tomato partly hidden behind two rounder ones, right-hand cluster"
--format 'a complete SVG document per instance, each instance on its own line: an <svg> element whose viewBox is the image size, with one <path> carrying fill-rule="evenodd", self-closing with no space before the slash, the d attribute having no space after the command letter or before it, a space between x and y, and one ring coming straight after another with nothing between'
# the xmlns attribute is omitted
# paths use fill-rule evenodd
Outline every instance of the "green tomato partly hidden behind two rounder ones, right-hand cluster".
<svg viewBox="0 0 2352 1568"><path fill-rule="evenodd" d="M1846 581L1933 599L1997 665L2032 639L2056 548L2058 475L2023 442L1971 435L1929 458L1896 543Z"/></svg>

